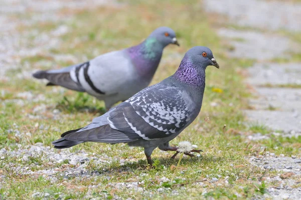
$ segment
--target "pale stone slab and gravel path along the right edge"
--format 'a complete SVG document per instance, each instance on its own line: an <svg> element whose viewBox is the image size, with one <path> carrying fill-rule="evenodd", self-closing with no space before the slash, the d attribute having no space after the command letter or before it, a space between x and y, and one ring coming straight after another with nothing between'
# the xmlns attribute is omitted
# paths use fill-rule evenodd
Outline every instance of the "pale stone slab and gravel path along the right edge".
<svg viewBox="0 0 301 200"><path fill-rule="evenodd" d="M267 0L204 0L205 9L226 15L230 24L247 27L244 30L220 28L218 33L229 39L228 54L232 57L250 58L255 64L248 68L246 83L253 86L258 98L250 99L253 110L244 110L251 124L259 123L271 129L282 131L269 135L254 133L247 140L262 140L276 136L301 135L301 89L269 88L270 84L300 84L301 63L273 63L265 60L290 58L290 53L300 52L299 44L290 38L271 30L301 30L301 3ZM225 25L227 27L227 25ZM255 27L255 30L250 30ZM254 29L254 28L253 28ZM264 30L263 31L260 31ZM268 30L268 31L267 31ZM261 146L263 147L263 146ZM301 176L301 159L296 155L284 156L267 153L251 156L250 163L263 170L276 170L275 177L264 177L266 181L276 181L277 186L267 188L268 194L256 199L299 199L301 187L295 188L296 179ZM286 173L286 175L284 174ZM282 175L282 176L281 176Z"/></svg>

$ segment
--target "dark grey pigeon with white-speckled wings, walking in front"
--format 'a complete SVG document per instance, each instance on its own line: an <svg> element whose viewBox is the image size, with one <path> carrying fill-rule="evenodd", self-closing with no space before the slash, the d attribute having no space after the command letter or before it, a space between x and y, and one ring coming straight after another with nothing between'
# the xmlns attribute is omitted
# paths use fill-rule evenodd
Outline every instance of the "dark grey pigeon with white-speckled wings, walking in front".
<svg viewBox="0 0 301 200"><path fill-rule="evenodd" d="M52 142L54 147L68 148L86 141L124 142L130 146L143 146L150 165L150 155L156 147L177 151L177 154L178 147L170 146L169 141L199 114L208 65L219 68L211 50L205 46L191 48L175 74L142 89L94 118L89 125L63 133L62 138ZM190 152L186 154L193 156Z"/></svg>

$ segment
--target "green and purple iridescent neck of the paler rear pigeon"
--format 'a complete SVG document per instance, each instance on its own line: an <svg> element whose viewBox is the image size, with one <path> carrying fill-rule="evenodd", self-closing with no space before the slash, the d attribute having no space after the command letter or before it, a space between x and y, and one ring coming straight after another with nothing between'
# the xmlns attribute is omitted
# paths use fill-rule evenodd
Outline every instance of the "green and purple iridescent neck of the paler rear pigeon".
<svg viewBox="0 0 301 200"><path fill-rule="evenodd" d="M156 38L148 37L142 43L128 48L129 56L140 76L152 78L161 60L164 46Z"/></svg>

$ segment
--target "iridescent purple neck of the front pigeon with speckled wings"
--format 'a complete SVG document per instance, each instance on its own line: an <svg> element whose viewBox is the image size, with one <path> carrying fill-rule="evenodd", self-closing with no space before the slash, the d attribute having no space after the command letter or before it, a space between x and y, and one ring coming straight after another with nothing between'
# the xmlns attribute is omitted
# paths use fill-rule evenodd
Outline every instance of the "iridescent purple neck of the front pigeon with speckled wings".
<svg viewBox="0 0 301 200"><path fill-rule="evenodd" d="M197 70L194 65L193 62L184 57L174 76L183 83L204 90L205 70Z"/></svg>

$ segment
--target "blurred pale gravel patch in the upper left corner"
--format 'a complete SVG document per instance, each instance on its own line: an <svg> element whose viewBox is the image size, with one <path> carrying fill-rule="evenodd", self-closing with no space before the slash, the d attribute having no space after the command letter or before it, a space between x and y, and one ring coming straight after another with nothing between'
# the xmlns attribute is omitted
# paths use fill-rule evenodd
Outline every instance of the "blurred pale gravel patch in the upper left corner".
<svg viewBox="0 0 301 200"><path fill-rule="evenodd" d="M30 78L32 68L28 63L24 63L21 66L21 59L37 54L49 55L49 49L59 48L59 36L72 31L71 27L67 25L60 25L50 32L39 32L35 28L20 31L20 26L30 26L37 22L49 21L66 23L72 19L73 14L72 12L62 13L62 9L89 10L104 4L112 6L121 5L115 0L1 0L0 80L9 80L6 72L19 68L22 68L22 70L16 74L17 77ZM29 14L24 16L25 13ZM28 38L33 39L29 40ZM61 60L79 61L73 55L50 55L54 57L56 62Z"/></svg>

